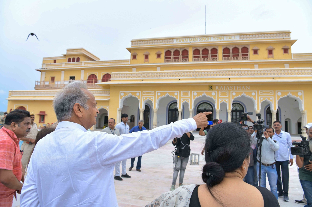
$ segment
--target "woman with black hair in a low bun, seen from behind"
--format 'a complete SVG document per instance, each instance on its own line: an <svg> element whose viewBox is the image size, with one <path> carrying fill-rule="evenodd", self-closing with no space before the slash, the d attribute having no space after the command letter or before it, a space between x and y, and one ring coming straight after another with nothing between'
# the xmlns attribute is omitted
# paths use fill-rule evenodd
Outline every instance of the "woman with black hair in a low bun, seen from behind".
<svg viewBox="0 0 312 207"><path fill-rule="evenodd" d="M147 207L279 207L270 190L243 181L250 161L251 138L236 123L221 123L209 130L202 167L203 185L182 185L166 192Z"/></svg>

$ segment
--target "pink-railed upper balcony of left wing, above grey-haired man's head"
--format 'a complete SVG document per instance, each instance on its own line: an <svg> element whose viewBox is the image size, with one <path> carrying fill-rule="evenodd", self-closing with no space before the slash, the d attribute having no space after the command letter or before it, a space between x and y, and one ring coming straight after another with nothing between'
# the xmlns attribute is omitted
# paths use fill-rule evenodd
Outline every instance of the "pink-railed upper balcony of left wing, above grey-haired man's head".
<svg viewBox="0 0 312 207"><path fill-rule="evenodd" d="M102 86L96 85L101 80L61 80L61 81L36 81L35 89L61 89L73 81L82 81L87 84L88 89L100 89Z"/></svg>

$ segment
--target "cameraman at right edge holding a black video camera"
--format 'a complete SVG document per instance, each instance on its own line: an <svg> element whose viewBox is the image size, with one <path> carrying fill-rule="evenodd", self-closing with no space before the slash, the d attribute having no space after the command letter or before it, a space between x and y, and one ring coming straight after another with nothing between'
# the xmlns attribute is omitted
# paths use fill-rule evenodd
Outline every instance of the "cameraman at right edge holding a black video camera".
<svg viewBox="0 0 312 207"><path fill-rule="evenodd" d="M307 135L308 137L312 137L312 127L309 128ZM295 147L291 147L291 153L296 155L296 164L299 167L299 179L307 200L307 205L304 207L312 207L312 139L308 138L308 141L303 142L293 142Z"/></svg>

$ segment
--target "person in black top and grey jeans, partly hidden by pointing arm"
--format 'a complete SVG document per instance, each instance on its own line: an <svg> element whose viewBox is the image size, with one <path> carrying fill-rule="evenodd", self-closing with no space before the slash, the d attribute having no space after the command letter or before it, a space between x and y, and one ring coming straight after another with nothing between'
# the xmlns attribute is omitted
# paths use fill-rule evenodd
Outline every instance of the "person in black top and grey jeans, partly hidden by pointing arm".
<svg viewBox="0 0 312 207"><path fill-rule="evenodd" d="M174 156L173 180L170 190L175 190L175 184L180 171L179 187L183 183L184 171L188 164L188 157L191 153L190 140L194 140L191 132L183 134L182 137L174 138L172 141L173 146L176 146L176 155Z"/></svg>

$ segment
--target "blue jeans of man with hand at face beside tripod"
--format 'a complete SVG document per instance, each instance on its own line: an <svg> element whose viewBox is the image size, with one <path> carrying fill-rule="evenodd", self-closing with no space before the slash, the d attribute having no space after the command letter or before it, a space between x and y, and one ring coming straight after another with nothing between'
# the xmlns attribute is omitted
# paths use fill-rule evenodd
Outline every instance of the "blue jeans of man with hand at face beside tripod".
<svg viewBox="0 0 312 207"><path fill-rule="evenodd" d="M259 165L260 163L257 162L257 173L259 174ZM277 195L277 172L275 165L271 166L264 166L261 165L261 180L260 180L260 186L261 187L266 187L266 175L268 175L268 180L271 188L271 192L275 195L276 199L278 199Z"/></svg>

